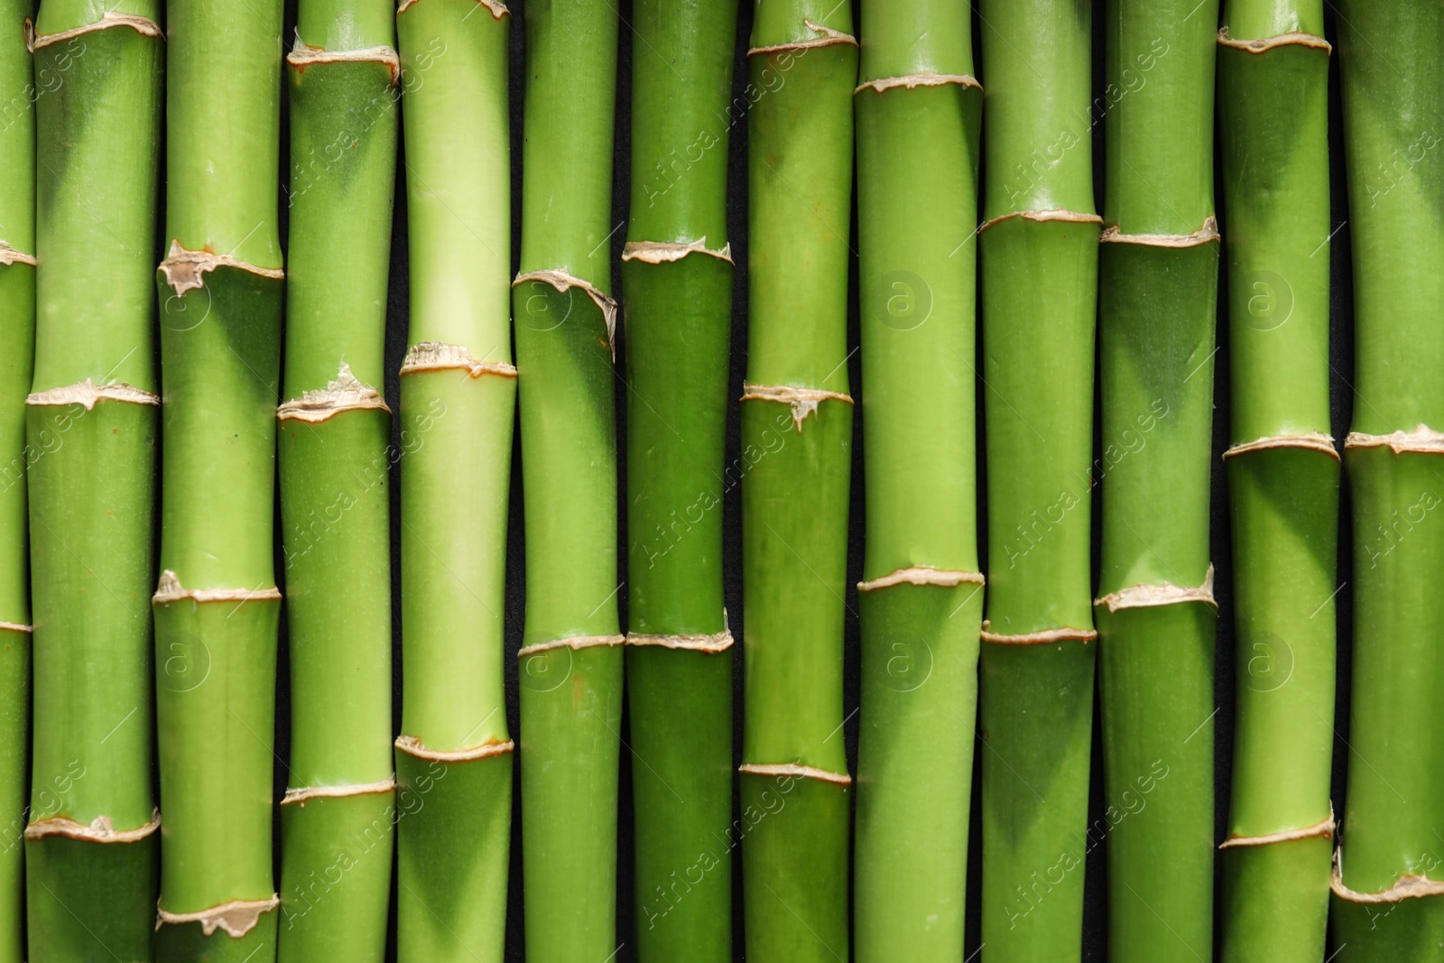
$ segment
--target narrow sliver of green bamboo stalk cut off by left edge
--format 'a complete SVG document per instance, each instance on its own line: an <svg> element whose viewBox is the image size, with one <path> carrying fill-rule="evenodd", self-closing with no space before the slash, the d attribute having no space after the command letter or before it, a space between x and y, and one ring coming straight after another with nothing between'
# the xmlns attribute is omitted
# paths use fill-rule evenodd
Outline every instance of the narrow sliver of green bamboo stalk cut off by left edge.
<svg viewBox="0 0 1444 963"><path fill-rule="evenodd" d="M25 960L30 749L30 559L25 397L35 360L35 87L26 48L33 0L0 0L0 963Z"/></svg>

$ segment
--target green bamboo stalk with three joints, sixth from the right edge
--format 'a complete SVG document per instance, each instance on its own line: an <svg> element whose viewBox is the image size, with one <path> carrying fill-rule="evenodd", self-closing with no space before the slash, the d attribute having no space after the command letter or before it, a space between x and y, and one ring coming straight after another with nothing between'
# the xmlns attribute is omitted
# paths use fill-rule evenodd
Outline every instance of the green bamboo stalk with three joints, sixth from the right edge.
<svg viewBox="0 0 1444 963"><path fill-rule="evenodd" d="M742 450L768 452L742 479L742 899L758 963L848 957L851 32L849 0L758 0L748 51L754 88L771 88L748 113L742 394Z"/></svg>

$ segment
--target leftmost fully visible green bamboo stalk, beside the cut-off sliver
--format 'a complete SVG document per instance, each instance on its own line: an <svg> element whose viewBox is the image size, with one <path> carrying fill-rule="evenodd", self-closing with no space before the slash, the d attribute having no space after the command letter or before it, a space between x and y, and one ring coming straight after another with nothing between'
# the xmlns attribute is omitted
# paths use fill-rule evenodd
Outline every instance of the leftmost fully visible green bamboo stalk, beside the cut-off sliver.
<svg viewBox="0 0 1444 963"><path fill-rule="evenodd" d="M46 0L29 445L29 959L150 959L160 4ZM53 439L53 442L51 440Z"/></svg>

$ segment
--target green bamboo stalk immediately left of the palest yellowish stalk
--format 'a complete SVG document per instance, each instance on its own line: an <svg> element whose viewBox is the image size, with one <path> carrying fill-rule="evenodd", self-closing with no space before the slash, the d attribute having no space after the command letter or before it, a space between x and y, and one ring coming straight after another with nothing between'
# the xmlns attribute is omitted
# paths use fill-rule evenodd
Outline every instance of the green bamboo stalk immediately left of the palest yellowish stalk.
<svg viewBox="0 0 1444 963"><path fill-rule="evenodd" d="M292 755L280 959L386 957L396 824L384 367L400 61L387 0L305 0L290 66L280 511Z"/></svg>

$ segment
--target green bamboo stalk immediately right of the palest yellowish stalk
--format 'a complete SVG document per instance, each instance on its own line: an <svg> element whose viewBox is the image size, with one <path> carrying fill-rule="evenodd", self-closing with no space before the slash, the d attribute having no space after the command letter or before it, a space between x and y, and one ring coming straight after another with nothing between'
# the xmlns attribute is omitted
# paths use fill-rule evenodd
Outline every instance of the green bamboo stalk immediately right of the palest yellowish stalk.
<svg viewBox="0 0 1444 963"><path fill-rule="evenodd" d="M527 534L517 657L531 963L605 960L618 950L617 303L606 293L617 26L611 3L527 4L513 310Z"/></svg>

